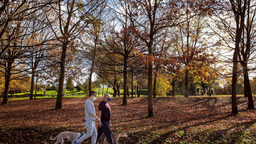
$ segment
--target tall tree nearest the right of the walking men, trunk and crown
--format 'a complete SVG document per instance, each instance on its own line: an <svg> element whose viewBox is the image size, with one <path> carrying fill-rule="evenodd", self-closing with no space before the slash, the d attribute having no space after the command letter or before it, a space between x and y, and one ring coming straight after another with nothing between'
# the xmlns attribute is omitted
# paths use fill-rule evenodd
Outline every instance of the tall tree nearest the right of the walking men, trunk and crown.
<svg viewBox="0 0 256 144"><path fill-rule="evenodd" d="M129 1L130 2L130 1ZM134 0L130 3L130 19L135 34L145 43L148 58L148 116L153 117L152 99L152 76L154 60L154 41L159 35L159 31L164 28L178 25L182 2L175 1L139 1Z"/></svg>

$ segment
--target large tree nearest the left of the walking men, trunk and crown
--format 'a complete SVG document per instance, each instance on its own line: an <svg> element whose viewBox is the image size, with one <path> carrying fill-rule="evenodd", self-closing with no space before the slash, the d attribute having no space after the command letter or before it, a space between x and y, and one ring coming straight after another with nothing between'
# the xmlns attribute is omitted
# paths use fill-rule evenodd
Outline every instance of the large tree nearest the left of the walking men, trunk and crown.
<svg viewBox="0 0 256 144"><path fill-rule="evenodd" d="M85 30L89 24L95 20L93 12L103 3L105 3L105 1L59 0L58 5L52 5L52 9L54 9L53 13L47 15L47 22L57 23L59 26L50 25L61 47L59 89L55 109L62 108L62 90L65 78L67 51L77 49L79 43L78 39L86 32ZM53 18L52 15L57 15L56 19Z"/></svg>

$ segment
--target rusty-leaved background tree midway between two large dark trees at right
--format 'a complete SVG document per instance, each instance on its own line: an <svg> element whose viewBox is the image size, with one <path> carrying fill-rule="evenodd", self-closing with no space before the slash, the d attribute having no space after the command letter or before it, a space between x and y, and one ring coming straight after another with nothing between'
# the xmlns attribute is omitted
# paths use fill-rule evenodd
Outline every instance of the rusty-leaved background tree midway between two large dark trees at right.
<svg viewBox="0 0 256 144"><path fill-rule="evenodd" d="M201 1L189 2L186 4L186 15L180 20L183 21L174 28L173 48L176 50L178 61L184 65L185 73L185 97L188 97L189 73L199 69L200 64L210 61L209 39L206 35L206 6L207 3ZM194 90L194 89L193 89Z"/></svg>

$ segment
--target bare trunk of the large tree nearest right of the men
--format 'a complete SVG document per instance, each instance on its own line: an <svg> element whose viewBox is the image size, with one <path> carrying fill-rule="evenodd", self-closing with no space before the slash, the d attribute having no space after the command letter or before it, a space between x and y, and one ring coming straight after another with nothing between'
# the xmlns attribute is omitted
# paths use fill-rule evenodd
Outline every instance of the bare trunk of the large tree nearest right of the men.
<svg viewBox="0 0 256 144"><path fill-rule="evenodd" d="M153 117L153 99L152 99L152 63L149 62L148 65L148 116Z"/></svg>

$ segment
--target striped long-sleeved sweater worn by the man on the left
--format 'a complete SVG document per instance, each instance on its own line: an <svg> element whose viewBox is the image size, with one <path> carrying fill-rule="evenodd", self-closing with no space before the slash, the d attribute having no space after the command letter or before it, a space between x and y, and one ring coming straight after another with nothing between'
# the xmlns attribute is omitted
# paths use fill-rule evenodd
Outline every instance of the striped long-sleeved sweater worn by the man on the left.
<svg viewBox="0 0 256 144"><path fill-rule="evenodd" d="M92 114L95 115L95 108L94 108L93 102L90 99L87 99L85 101L84 111L85 111L85 121L95 120L95 117L92 116Z"/></svg>

